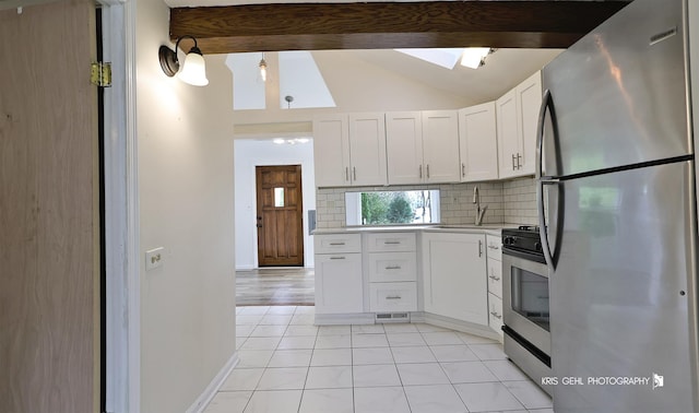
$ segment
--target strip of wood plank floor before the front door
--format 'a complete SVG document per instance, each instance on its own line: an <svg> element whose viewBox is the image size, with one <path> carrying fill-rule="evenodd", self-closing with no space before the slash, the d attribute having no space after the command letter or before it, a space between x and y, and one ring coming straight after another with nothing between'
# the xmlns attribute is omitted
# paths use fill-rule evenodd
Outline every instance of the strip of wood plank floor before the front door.
<svg viewBox="0 0 699 413"><path fill-rule="evenodd" d="M236 271L236 306L312 306L315 272L308 268Z"/></svg>

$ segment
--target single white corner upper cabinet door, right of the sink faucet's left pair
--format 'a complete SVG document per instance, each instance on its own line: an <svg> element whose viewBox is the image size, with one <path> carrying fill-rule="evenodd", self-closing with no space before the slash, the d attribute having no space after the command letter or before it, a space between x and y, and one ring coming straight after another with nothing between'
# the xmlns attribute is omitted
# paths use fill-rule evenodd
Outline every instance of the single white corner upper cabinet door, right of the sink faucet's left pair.
<svg viewBox="0 0 699 413"><path fill-rule="evenodd" d="M495 102L459 110L461 181L498 178Z"/></svg>

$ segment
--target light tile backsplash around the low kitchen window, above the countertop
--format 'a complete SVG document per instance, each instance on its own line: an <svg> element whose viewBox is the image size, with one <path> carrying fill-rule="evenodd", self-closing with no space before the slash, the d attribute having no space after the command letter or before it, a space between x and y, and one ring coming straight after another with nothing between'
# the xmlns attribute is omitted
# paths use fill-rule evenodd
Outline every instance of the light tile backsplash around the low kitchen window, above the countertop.
<svg viewBox="0 0 699 413"><path fill-rule="evenodd" d="M534 178L528 177L509 181L477 184L321 188L316 192L316 225L318 228L346 226L345 192L415 189L439 189L440 213L443 224L472 224L476 216L476 205L473 203L473 188L475 186L478 187L481 206L487 205L483 219L484 224L535 225L537 223L536 186Z"/></svg>

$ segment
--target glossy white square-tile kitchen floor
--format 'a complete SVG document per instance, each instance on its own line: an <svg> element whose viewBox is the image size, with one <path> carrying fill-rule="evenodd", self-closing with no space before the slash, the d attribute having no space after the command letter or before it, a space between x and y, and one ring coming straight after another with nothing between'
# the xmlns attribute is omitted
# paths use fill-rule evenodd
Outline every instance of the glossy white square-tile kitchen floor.
<svg viewBox="0 0 699 413"><path fill-rule="evenodd" d="M205 413L553 413L488 339L424 323L313 326L312 306L237 307L239 364Z"/></svg>

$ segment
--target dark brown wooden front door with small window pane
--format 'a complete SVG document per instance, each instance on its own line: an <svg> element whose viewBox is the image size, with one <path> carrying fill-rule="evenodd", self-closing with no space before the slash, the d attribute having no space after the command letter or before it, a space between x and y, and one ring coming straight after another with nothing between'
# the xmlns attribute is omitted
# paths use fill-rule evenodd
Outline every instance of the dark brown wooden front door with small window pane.
<svg viewBox="0 0 699 413"><path fill-rule="evenodd" d="M258 262L304 266L301 166L257 166Z"/></svg>

